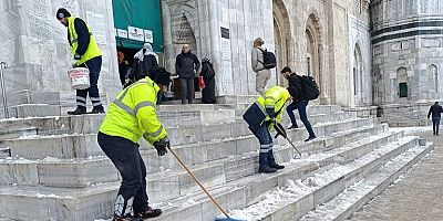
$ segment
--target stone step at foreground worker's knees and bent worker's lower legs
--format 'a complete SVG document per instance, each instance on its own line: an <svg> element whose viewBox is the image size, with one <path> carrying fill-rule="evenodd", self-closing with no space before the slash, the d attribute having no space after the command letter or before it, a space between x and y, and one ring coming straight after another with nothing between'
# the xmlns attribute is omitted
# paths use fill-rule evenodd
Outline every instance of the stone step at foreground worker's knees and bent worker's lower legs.
<svg viewBox="0 0 443 221"><path fill-rule="evenodd" d="M340 131L328 137L319 138L311 143L298 144L297 148L307 154L319 152L326 149L337 148L341 145L362 139L364 137L380 133L378 127L358 128L350 131ZM254 144L254 145L250 145ZM292 147L276 147L276 158L279 162L292 159ZM226 181L254 175L257 168L258 143L254 136L228 139L217 143L186 145L174 148L189 166L206 171L206 175L215 175L210 171L210 165L220 168L243 168L241 170L225 171ZM196 154L198 152L198 155ZM146 172L153 177L168 177L167 173L177 175L181 166L172 155L158 158L155 150L142 150L142 158L146 164ZM246 167L248 166L248 167ZM112 169L111 169L112 168ZM0 160L0 185L28 185L28 186L50 186L50 187L72 187L84 188L100 182L111 182L119 179L119 172L113 169L107 157L91 157L87 159L58 159L47 158L44 160ZM183 173L183 172L182 172ZM181 175L183 176L183 175ZM169 176L171 177L171 176ZM177 177L177 176L176 176ZM215 178L205 178L215 180ZM175 179L178 180L178 179ZM158 181L157 181L158 182ZM165 183L169 183L168 179ZM183 185L181 185L182 187ZM155 187L152 185L150 187ZM164 196L161 196L164 197ZM155 199L164 199L156 197Z"/></svg>

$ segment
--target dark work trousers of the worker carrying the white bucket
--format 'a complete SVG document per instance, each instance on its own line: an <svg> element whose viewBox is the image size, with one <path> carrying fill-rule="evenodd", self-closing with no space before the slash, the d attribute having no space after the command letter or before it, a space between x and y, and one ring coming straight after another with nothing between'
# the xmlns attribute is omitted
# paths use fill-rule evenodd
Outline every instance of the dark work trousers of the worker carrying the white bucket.
<svg viewBox="0 0 443 221"><path fill-rule="evenodd" d="M90 70L91 86L87 90L78 90L76 91L78 108L81 108L84 112L86 112L86 96L89 93L92 106L96 109L103 110L102 102L100 101L99 86L97 86L100 71L102 70L102 56L96 56L94 59L91 59L80 66L86 67Z"/></svg>

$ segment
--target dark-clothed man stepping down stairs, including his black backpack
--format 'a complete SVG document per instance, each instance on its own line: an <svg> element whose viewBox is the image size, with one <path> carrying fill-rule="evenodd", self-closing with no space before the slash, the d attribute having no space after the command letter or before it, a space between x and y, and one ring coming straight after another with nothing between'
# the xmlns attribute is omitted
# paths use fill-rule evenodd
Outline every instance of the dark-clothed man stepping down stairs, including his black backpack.
<svg viewBox="0 0 443 221"><path fill-rule="evenodd" d="M289 94L292 96L292 103L287 107L289 118L292 123L292 125L288 129L298 128L296 116L293 115L293 110L298 109L300 119L309 134L308 139L306 139L305 141L316 139L317 137L313 133L311 123L309 123L308 120L306 107L308 106L310 99L316 99L319 95L317 84L313 82L313 80L311 80L312 77L310 76L305 77L292 73L292 71L288 66L285 66L284 70L281 70L281 74L285 76L285 78L289 81L288 91Z"/></svg>

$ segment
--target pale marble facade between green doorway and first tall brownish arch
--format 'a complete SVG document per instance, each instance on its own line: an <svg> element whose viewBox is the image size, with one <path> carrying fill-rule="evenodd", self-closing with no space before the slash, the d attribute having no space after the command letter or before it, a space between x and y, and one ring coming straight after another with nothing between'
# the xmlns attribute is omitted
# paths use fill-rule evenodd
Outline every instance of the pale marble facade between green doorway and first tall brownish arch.
<svg viewBox="0 0 443 221"><path fill-rule="evenodd" d="M162 8L168 70L175 72L175 57L188 43L198 57L212 59L218 95L255 93L253 41L260 36L275 49L271 0L163 0Z"/></svg>

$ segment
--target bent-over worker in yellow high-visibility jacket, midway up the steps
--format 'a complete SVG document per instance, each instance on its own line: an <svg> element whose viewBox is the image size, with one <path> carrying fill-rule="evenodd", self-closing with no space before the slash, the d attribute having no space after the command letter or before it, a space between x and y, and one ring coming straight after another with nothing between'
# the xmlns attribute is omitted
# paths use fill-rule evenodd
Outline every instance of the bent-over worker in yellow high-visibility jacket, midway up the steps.
<svg viewBox="0 0 443 221"><path fill-rule="evenodd" d="M285 103L290 98L288 90L281 86L274 86L257 98L257 101L243 115L245 122L249 125L249 129L258 138L260 143L259 168L258 172L270 173L285 166L278 165L272 151L272 137L269 130L279 124L282 113L285 112ZM284 137L286 131L277 130Z"/></svg>

